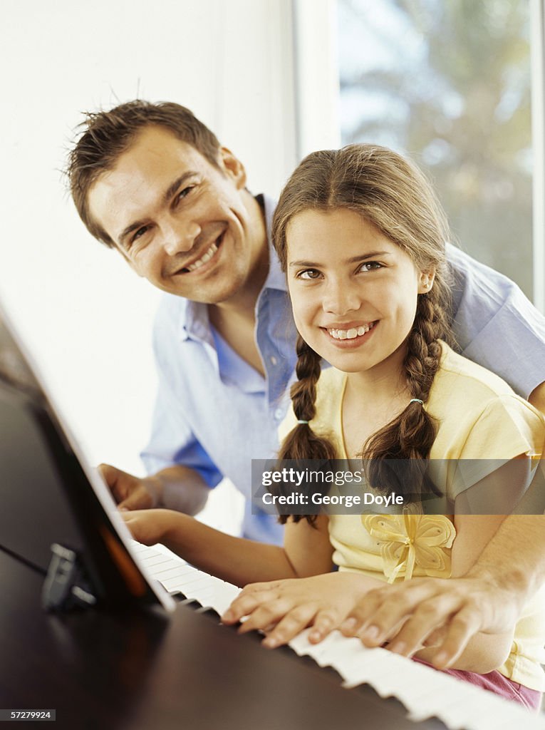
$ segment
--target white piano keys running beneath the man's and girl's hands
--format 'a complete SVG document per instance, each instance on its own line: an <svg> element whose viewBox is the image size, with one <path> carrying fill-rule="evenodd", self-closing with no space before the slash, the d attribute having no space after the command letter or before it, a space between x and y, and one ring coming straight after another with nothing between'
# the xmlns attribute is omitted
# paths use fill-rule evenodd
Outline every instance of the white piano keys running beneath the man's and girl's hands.
<svg viewBox="0 0 545 730"><path fill-rule="evenodd" d="M190 566L163 545L133 545L144 569L169 593L179 591L221 615L240 592L235 585ZM534 715L514 702L429 666L385 649L368 649L358 639L347 639L339 631L312 645L308 633L303 631L290 642L298 656L309 656L320 666L336 669L347 688L369 684L382 697L394 696L415 722L437 717L449 730L545 730L544 715Z"/></svg>

